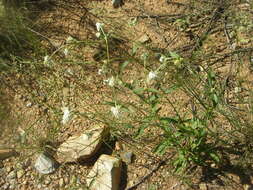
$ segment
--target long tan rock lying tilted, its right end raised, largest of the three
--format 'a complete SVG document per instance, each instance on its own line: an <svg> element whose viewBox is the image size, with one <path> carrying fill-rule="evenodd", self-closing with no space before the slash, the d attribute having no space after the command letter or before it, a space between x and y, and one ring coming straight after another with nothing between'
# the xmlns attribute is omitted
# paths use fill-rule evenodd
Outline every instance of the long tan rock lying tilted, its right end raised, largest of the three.
<svg viewBox="0 0 253 190"><path fill-rule="evenodd" d="M80 136L70 137L62 143L57 150L59 162L76 162L93 156L100 146L103 139L109 134L107 127L94 126L87 129Z"/></svg>

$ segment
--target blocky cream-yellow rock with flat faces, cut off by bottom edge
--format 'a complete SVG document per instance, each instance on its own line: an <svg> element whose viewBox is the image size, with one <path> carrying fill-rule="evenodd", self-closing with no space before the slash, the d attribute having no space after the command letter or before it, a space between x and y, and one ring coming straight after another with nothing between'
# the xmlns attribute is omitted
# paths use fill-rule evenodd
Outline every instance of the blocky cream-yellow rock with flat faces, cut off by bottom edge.
<svg viewBox="0 0 253 190"><path fill-rule="evenodd" d="M120 184L121 160L101 155L87 176L90 190L117 190Z"/></svg>

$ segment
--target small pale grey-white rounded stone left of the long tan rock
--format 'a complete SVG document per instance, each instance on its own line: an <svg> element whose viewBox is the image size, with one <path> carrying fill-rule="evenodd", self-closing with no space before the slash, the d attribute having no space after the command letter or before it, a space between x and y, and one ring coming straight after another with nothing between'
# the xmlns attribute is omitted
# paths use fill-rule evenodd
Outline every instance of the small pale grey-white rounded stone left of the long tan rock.
<svg viewBox="0 0 253 190"><path fill-rule="evenodd" d="M39 173L49 174L55 171L56 162L42 153L35 161L34 167Z"/></svg>

